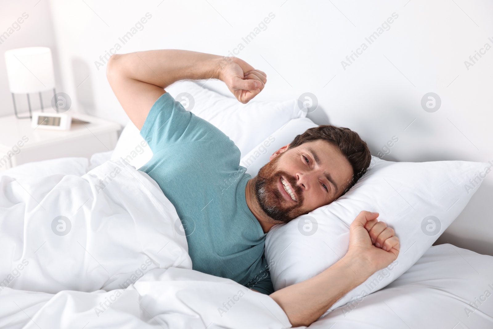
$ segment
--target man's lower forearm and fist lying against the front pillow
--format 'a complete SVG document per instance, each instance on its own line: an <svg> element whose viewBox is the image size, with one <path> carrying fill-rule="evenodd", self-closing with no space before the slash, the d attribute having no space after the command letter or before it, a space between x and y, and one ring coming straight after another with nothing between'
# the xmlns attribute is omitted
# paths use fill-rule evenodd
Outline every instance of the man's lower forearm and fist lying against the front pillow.
<svg viewBox="0 0 493 329"><path fill-rule="evenodd" d="M334 265L311 279L270 294L293 327L310 326L339 298L397 258L399 239L377 217L377 213L359 213L350 227L348 253Z"/></svg>

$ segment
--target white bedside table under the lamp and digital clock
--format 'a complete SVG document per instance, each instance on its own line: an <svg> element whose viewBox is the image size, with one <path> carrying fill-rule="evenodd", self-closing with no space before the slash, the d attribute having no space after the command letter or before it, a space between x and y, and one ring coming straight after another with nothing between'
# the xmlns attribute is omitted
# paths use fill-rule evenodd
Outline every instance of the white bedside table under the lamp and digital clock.
<svg viewBox="0 0 493 329"><path fill-rule="evenodd" d="M20 164L60 157L87 157L115 148L117 123L77 114L90 123L73 122L70 130L43 130L31 127L30 119L15 115L0 117L0 172Z"/></svg>

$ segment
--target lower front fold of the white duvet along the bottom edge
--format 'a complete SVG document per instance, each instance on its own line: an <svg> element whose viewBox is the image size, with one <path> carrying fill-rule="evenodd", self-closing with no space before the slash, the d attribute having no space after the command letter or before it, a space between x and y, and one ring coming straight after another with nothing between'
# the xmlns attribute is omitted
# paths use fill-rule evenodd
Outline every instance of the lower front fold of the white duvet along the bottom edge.
<svg viewBox="0 0 493 329"><path fill-rule="evenodd" d="M149 280L149 281L147 281ZM171 267L127 289L57 294L5 288L1 328L290 328L268 295L229 279Z"/></svg>

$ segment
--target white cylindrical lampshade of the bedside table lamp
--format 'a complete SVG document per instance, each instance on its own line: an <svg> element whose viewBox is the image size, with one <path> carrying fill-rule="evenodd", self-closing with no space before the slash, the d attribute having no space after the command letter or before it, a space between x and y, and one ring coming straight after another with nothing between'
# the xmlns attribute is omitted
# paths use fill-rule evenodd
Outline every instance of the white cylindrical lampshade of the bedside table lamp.
<svg viewBox="0 0 493 329"><path fill-rule="evenodd" d="M48 47L7 50L5 64L11 93L37 93L55 88L53 60Z"/></svg>

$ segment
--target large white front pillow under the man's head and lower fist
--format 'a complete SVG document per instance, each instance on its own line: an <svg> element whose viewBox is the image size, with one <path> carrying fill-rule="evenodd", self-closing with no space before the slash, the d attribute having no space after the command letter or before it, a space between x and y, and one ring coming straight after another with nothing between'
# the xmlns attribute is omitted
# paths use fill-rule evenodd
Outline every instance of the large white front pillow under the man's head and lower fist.
<svg viewBox="0 0 493 329"><path fill-rule="evenodd" d="M327 206L274 226L265 241L274 289L309 279L346 254L349 226L361 210L380 213L400 240L400 253L327 311L376 292L411 267L464 209L489 165L467 161L390 162L372 156L370 169Z"/></svg>

